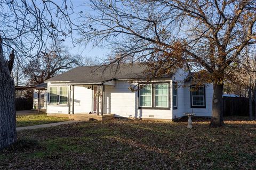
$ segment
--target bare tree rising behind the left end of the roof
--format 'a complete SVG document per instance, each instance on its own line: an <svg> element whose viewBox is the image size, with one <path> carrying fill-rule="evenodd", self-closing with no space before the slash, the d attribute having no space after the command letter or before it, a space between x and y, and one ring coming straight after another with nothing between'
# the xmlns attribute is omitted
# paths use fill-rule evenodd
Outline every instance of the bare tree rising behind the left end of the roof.
<svg viewBox="0 0 256 170"><path fill-rule="evenodd" d="M81 56L70 54L67 47L53 47L47 52L39 53L25 67L24 73L29 83L36 85L75 66L83 65Z"/></svg>

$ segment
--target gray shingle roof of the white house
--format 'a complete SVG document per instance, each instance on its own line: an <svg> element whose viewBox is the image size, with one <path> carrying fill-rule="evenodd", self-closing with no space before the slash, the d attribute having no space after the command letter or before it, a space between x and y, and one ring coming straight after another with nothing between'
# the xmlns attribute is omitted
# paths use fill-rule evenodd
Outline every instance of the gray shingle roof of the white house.
<svg viewBox="0 0 256 170"><path fill-rule="evenodd" d="M113 79L142 79L145 65L138 63L113 66L81 66L57 75L45 82L102 83ZM170 75L171 76L171 75ZM169 77L170 77L169 76Z"/></svg>

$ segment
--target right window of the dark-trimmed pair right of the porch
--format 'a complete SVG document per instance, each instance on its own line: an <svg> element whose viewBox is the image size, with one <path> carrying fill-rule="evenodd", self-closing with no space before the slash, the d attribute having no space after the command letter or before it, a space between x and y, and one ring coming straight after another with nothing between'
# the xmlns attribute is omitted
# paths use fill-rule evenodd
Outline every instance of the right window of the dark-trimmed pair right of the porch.
<svg viewBox="0 0 256 170"><path fill-rule="evenodd" d="M168 85L155 84L155 107L168 107Z"/></svg>

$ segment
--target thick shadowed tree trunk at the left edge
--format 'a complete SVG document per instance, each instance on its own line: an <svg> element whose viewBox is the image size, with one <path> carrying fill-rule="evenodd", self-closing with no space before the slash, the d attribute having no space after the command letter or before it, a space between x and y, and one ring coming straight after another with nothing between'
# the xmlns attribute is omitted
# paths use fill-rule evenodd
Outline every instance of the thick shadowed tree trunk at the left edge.
<svg viewBox="0 0 256 170"><path fill-rule="evenodd" d="M14 82L3 56L0 37L0 150L17 140L14 99Z"/></svg>

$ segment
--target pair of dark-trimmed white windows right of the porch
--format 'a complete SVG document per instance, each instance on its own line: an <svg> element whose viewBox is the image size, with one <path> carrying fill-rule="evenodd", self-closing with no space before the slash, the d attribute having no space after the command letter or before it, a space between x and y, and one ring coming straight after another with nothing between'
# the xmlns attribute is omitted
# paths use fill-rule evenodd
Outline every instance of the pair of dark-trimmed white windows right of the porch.
<svg viewBox="0 0 256 170"><path fill-rule="evenodd" d="M140 85L139 107L169 108L169 83L150 83Z"/></svg>

